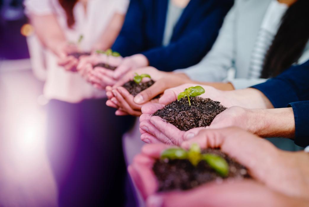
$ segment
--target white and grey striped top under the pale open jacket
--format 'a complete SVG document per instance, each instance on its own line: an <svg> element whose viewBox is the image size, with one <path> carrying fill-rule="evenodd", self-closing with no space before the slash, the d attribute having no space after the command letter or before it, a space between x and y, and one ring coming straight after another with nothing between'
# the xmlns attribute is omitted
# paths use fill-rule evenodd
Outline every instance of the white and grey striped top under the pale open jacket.
<svg viewBox="0 0 309 207"><path fill-rule="evenodd" d="M252 51L248 78L260 78L265 56L287 9L288 5L278 1L272 1L269 4Z"/></svg>

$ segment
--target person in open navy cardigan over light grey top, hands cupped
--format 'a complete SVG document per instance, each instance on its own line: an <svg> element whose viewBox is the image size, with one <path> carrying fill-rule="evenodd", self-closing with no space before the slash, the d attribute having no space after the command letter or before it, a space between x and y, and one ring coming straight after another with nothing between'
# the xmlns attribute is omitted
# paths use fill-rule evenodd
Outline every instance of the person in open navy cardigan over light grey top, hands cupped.
<svg viewBox="0 0 309 207"><path fill-rule="evenodd" d="M138 67L150 65L171 71L197 64L211 49L233 2L130 1L124 25L112 46L124 60L113 73L88 70L86 78L96 87L105 88ZM85 65L79 70L86 70Z"/></svg>

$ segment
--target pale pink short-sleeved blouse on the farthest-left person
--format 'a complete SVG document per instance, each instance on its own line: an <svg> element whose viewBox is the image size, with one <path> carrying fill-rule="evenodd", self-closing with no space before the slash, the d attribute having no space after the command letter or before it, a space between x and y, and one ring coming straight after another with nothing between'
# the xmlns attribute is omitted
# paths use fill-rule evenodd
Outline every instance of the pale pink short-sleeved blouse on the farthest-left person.
<svg viewBox="0 0 309 207"><path fill-rule="evenodd" d="M25 0L24 4L27 14L56 15L67 40L76 42L78 37L83 35L80 47L84 51L90 51L112 16L115 13L125 14L128 0L89 0L86 12L82 3L77 2L73 9L75 18L73 29L67 27L65 11L57 0ZM105 91L95 89L78 73L65 71L63 67L58 66L57 57L52 52L47 50L45 58L47 75L44 95L47 99L76 103L83 99L105 96Z"/></svg>

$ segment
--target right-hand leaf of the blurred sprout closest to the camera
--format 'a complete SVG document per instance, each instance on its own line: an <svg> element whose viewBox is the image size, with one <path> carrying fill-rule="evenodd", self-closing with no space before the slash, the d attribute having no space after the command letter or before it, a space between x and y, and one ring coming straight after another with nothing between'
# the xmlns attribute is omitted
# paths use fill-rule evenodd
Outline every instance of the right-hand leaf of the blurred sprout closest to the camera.
<svg viewBox="0 0 309 207"><path fill-rule="evenodd" d="M226 177L229 174L229 165L224 158L215 154L202 154L202 159L220 176Z"/></svg>

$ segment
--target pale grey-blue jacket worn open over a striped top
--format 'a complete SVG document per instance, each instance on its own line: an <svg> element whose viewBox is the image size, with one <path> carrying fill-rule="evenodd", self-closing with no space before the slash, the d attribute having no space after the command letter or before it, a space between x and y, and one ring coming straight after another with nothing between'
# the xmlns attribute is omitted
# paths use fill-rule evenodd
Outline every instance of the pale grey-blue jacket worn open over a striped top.
<svg viewBox="0 0 309 207"><path fill-rule="evenodd" d="M197 81L230 81L235 89L265 82L264 78L250 79L249 68L261 24L272 1L275 0L236 0L210 52L199 64L177 71ZM308 59L309 44L296 64Z"/></svg>

